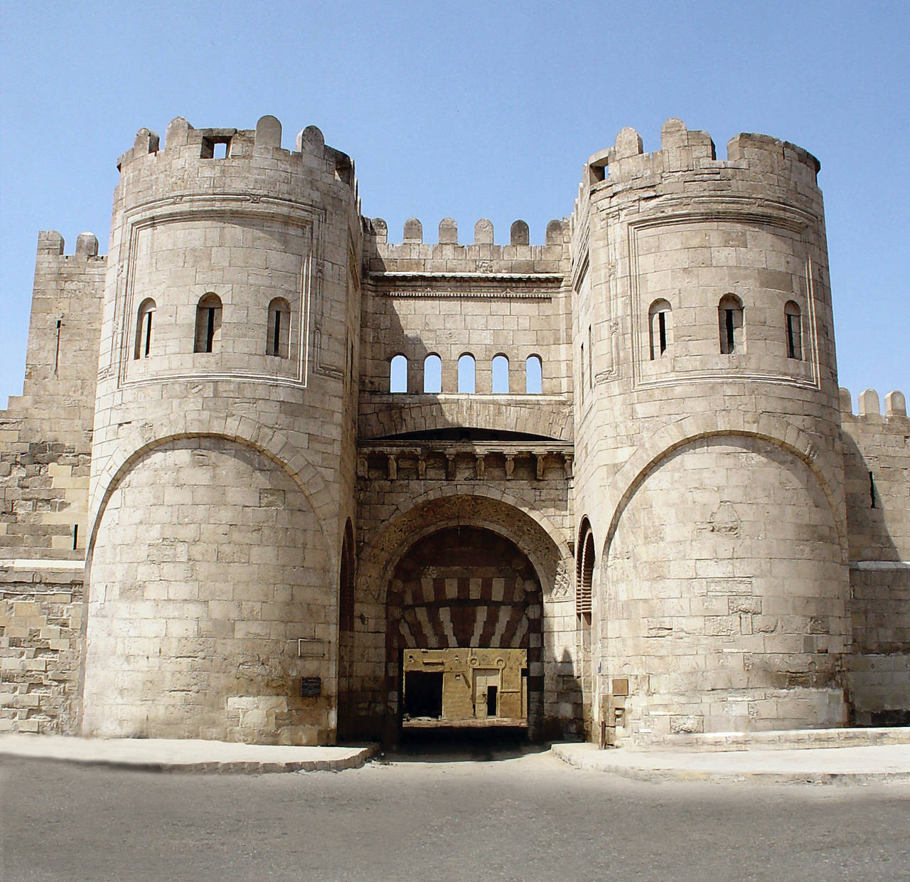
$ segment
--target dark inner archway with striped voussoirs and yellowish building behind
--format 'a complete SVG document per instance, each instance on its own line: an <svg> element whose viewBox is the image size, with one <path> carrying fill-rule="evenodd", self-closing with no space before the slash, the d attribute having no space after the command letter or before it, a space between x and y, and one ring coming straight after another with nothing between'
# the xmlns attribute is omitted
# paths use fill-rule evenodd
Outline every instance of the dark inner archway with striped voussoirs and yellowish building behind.
<svg viewBox="0 0 910 882"><path fill-rule="evenodd" d="M403 730L521 727L542 716L541 582L499 533L424 536L389 583L389 698Z"/></svg>

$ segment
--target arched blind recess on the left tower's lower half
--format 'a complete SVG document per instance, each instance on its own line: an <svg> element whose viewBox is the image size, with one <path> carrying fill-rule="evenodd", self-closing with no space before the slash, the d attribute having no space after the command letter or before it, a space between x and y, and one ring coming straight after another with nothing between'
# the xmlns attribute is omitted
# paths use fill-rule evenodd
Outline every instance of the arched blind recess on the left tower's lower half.
<svg viewBox="0 0 910 882"><path fill-rule="evenodd" d="M329 559L306 495L263 451L213 436L148 445L96 522L86 733L325 743ZM301 641L318 652L289 651ZM304 699L295 686L313 675L322 692Z"/></svg>

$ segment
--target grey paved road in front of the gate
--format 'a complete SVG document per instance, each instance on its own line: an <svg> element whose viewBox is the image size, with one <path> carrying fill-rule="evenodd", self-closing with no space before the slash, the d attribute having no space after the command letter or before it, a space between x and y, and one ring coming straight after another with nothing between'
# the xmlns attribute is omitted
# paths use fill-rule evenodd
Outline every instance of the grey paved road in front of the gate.
<svg viewBox="0 0 910 882"><path fill-rule="evenodd" d="M161 775L4 760L0 878L910 879L910 786L633 782L551 755Z"/></svg>

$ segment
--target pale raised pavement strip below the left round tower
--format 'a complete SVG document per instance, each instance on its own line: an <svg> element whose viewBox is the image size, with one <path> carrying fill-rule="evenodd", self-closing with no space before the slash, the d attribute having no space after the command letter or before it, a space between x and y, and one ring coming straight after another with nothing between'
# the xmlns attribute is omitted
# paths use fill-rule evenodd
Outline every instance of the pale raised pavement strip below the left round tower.
<svg viewBox="0 0 910 882"><path fill-rule="evenodd" d="M176 738L0 735L0 762L16 756L155 772L339 772L359 768L375 751L375 745L299 747Z"/></svg>

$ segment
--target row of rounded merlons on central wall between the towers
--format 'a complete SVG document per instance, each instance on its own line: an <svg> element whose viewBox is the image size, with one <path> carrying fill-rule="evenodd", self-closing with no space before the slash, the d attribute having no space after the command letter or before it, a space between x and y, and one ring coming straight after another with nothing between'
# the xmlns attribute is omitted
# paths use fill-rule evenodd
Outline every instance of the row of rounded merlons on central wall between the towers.
<svg viewBox="0 0 910 882"><path fill-rule="evenodd" d="M364 259L371 272L388 270L424 272L561 272L561 260L568 223L553 219L547 224L545 244L531 245L531 234L524 220L509 229L509 244L493 242L493 225L487 218L474 224L474 241L460 244L458 224L442 218L439 240L423 241L423 225L417 218L404 222L402 240L389 242L389 227L382 218L363 218L367 244Z"/></svg>

